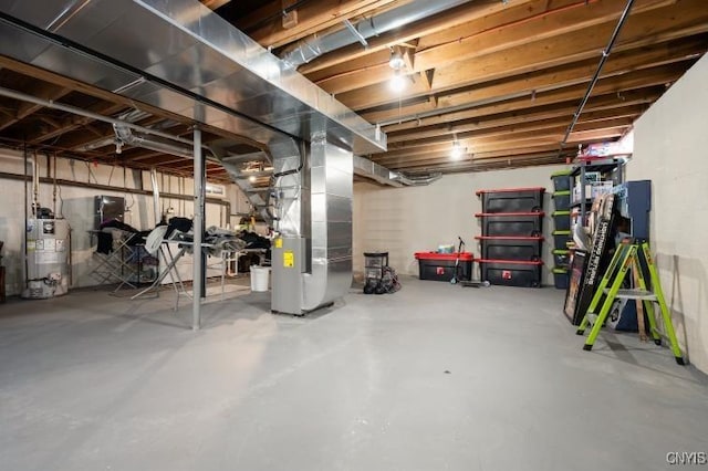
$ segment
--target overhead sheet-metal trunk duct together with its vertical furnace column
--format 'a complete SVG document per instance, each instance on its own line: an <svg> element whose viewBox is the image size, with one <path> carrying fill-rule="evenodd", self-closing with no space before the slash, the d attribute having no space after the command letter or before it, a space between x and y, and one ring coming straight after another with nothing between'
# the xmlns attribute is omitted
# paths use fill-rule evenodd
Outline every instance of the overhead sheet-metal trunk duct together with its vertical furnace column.
<svg viewBox="0 0 708 471"><path fill-rule="evenodd" d="M346 292L351 156L385 150L385 134L200 2L0 0L0 54L268 147L283 234L273 250L273 310L301 314Z"/></svg>

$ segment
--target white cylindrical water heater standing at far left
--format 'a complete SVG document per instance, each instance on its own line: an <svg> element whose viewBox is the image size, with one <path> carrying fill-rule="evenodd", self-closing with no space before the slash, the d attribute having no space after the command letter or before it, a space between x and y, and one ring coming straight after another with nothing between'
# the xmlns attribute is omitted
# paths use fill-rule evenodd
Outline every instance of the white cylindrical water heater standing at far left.
<svg viewBox="0 0 708 471"><path fill-rule="evenodd" d="M69 221L27 220L27 286L22 297L45 300L69 291Z"/></svg>

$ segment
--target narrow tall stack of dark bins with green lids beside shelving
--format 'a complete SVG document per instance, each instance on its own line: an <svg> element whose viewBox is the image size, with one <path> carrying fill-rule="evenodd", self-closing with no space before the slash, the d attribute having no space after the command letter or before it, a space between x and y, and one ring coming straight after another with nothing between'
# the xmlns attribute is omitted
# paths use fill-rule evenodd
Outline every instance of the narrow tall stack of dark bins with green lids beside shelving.
<svg viewBox="0 0 708 471"><path fill-rule="evenodd" d="M565 290L570 281L570 250L571 241L571 170L551 174L553 180L553 280L555 287Z"/></svg>

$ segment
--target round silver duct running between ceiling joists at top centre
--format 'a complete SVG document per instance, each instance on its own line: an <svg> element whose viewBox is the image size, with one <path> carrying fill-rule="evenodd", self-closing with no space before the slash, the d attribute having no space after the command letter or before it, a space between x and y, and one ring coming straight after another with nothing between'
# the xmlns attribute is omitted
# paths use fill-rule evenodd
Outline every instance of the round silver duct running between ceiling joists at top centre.
<svg viewBox="0 0 708 471"><path fill-rule="evenodd" d="M416 0L403 7L385 11L378 15L361 20L356 24L347 24L343 30L319 36L313 34L281 54L283 61L296 69L327 52L335 51L367 38L383 34L406 24L423 20L450 8L467 3L469 0ZM355 31L351 31L354 29Z"/></svg>

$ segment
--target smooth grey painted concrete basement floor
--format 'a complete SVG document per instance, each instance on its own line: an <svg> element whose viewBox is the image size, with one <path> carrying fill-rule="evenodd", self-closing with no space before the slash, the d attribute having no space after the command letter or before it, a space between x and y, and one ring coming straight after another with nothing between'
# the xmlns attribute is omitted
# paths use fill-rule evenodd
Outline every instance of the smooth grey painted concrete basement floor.
<svg viewBox="0 0 708 471"><path fill-rule="evenodd" d="M0 306L0 469L626 471L708 451L708 381L668 349L605 332L583 352L553 289L403 282L306 318L236 291L196 333L169 293Z"/></svg>

